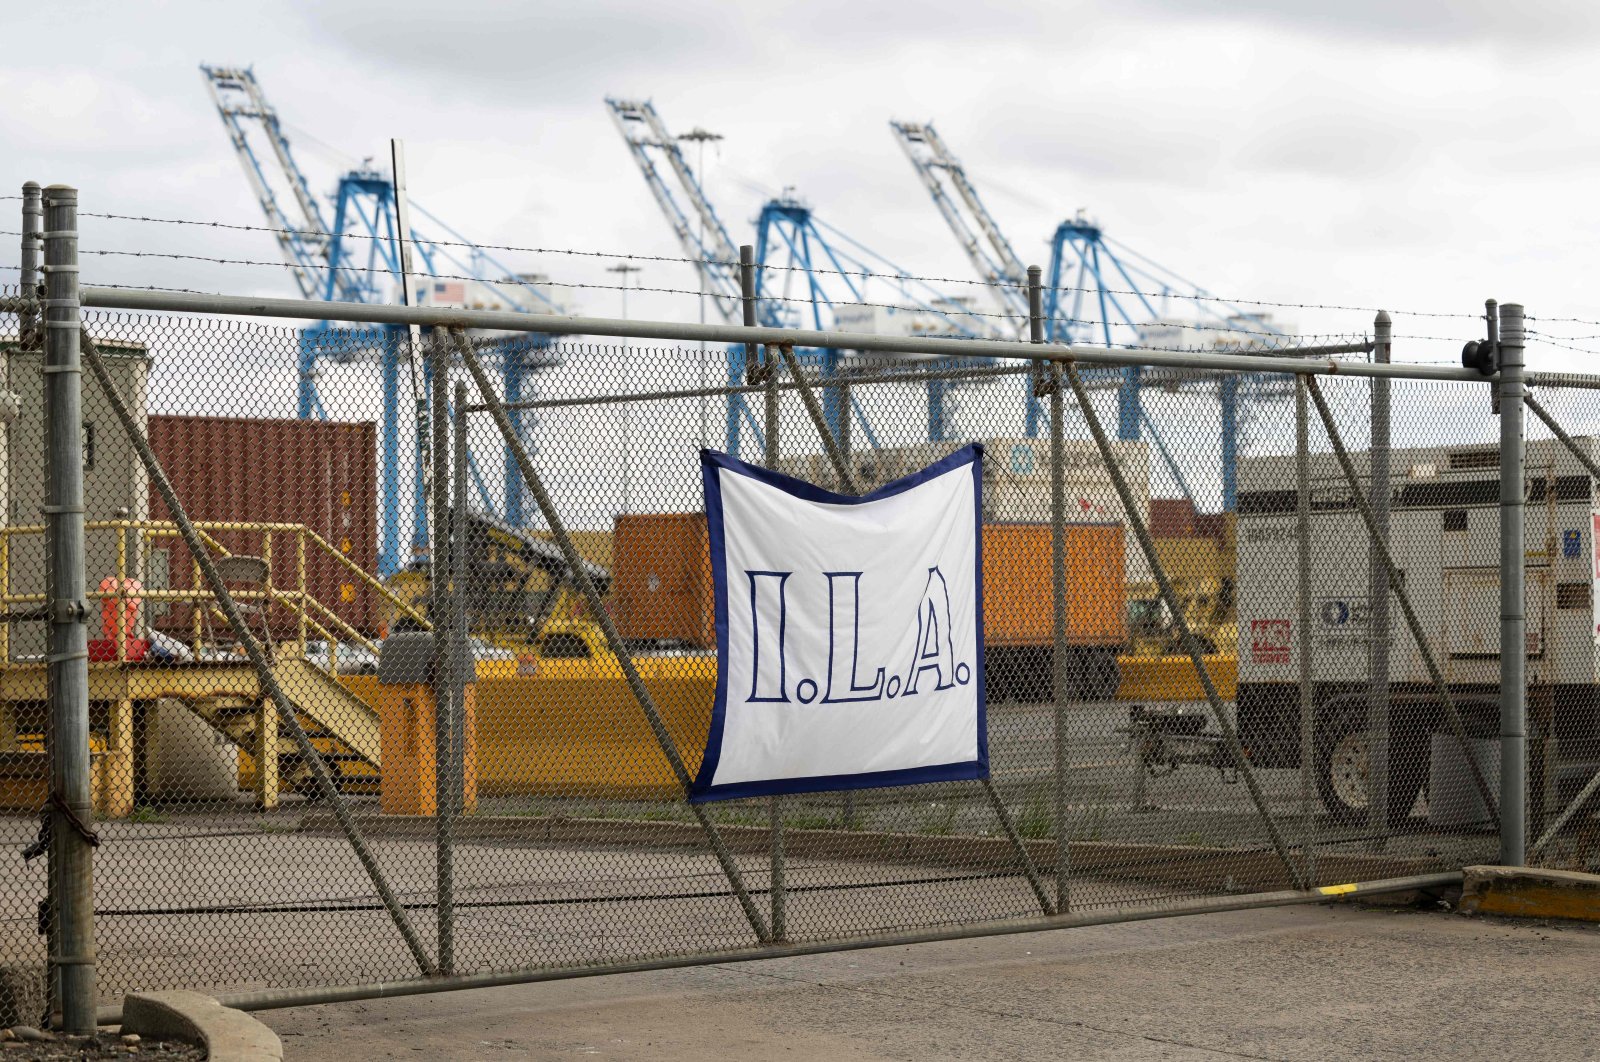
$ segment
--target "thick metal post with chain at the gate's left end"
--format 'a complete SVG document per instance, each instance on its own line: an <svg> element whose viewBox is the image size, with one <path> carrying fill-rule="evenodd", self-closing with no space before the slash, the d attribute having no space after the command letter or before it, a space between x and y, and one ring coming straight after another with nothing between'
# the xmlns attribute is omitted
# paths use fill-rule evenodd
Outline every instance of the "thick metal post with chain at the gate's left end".
<svg viewBox="0 0 1600 1062"><path fill-rule="evenodd" d="M78 192L45 189L45 541L50 641L50 864L61 1020L94 1032L94 864L90 793L88 603L83 597L83 379L78 361Z"/></svg>

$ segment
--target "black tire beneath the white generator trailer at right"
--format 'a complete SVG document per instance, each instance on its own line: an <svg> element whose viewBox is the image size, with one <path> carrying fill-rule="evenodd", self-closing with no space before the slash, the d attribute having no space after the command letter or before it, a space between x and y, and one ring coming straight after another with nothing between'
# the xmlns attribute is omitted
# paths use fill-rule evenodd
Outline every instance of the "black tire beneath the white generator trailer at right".
<svg viewBox="0 0 1600 1062"><path fill-rule="evenodd" d="M1411 817L1411 804L1427 784L1427 734L1422 731L1414 725L1390 726L1389 825ZM1363 820L1371 749L1365 709L1357 704L1326 709L1317 720L1315 747L1317 793L1323 808L1334 822Z"/></svg>

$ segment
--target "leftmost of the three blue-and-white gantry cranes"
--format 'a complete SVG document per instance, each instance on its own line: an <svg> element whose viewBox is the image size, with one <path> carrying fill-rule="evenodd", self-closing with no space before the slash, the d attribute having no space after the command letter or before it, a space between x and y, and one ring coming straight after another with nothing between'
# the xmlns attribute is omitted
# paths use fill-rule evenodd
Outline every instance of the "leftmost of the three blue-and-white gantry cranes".
<svg viewBox="0 0 1600 1062"><path fill-rule="evenodd" d="M408 302L456 304L470 297L498 309L526 313L565 313L544 291L538 278L522 277L493 254L475 246L438 218L411 203L438 237L411 227L400 232L395 210L395 186L371 166L360 166L339 178L330 203L318 198L294 160L290 139L277 110L267 102L251 67L202 66L206 90L227 130L250 181L267 229L290 266L294 283L306 299L330 302L382 302L394 297L394 283L402 275L402 235L414 248L413 289ZM440 275L459 277L456 283L435 283ZM557 363L549 336L520 341L496 341L485 353L501 365L507 401L531 397L531 376ZM381 421L381 499L379 571L392 574L403 565L400 555L402 528L402 461L400 461L400 392L402 360L410 353L410 336L403 328L378 326L333 331L322 321L301 333L296 411L301 417L326 417L317 389L323 361L374 360L379 363L382 390ZM413 366L414 369L414 366ZM429 389L413 371L414 400L427 401ZM426 408L422 409L426 413ZM528 441L531 417L515 411L514 422ZM422 445L421 435L414 440ZM474 478L485 507L493 509L490 491L474 462ZM504 470L506 518L523 525L522 477L507 451ZM413 459L411 489L413 547L427 545L427 502L422 491L422 461Z"/></svg>

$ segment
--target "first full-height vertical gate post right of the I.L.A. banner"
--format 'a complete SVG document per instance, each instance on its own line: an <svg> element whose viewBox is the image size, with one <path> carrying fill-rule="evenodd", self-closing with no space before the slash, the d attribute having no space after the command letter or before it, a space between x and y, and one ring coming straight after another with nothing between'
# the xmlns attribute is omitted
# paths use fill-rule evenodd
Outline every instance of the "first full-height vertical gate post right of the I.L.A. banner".
<svg viewBox="0 0 1600 1062"><path fill-rule="evenodd" d="M1045 342L1043 270L1027 267L1027 339ZM1056 913L1072 910L1072 846L1067 822L1067 443L1066 405L1061 395L1061 366L1037 366L1034 397L1050 392L1050 699L1054 707L1054 820L1056 820Z"/></svg>

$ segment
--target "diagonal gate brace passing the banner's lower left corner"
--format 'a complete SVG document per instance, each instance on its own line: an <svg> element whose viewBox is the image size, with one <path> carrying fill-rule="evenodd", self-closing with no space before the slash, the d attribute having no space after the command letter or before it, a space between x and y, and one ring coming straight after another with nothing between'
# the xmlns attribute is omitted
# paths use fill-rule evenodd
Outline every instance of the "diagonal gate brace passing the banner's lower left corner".
<svg viewBox="0 0 1600 1062"><path fill-rule="evenodd" d="M605 603L600 600L600 592L595 590L594 581L590 581L589 573L584 571L582 558L578 555L578 547L573 545L573 539L566 533L566 525L562 523L562 515L555 512L555 502L550 501L549 491L544 489L544 480L539 478L538 470L533 467L533 457L528 456L528 448L523 446L522 438L510 424L510 414L506 413L506 403L502 403L499 395L494 393L488 373L483 371L483 363L478 361L478 355L472 350L472 344L467 342L466 333L459 328L451 328L450 334L456 342L456 352L461 355L461 361L472 374L472 382L478 387L478 397L483 400L483 408L488 409L491 417L494 417L494 427L499 429L501 437L506 440L506 446L509 446L512 454L517 457L517 469L522 472L523 483L526 483L528 489L533 493L533 497L539 505L539 512L544 515L544 521L549 525L550 534L555 536L555 544L562 550L562 558L566 561L566 568L573 573L573 582L589 603L589 611L594 614L595 622L600 624L606 646L610 646L611 653L618 659L618 664L622 667L622 677L627 680L627 688L632 691L634 699L638 701L638 707L643 709L645 720L650 723L650 731L654 734L656 744L661 745L661 752L667 757L667 763L672 766L672 774L677 776L678 785L683 787L683 793L686 796L693 779L690 779L688 768L683 766L683 757L678 755L678 747L672 744L672 734L667 733L667 725L661 721L661 712L656 709L656 701L650 696L650 689L645 688L645 680L640 678L638 669L634 667L634 657L629 653L627 645L622 641L622 635L618 632L616 622L613 622L611 614L605 609ZM690 811L694 812L694 819L699 822L701 830L704 830L706 840L717 857L717 864L728 878L728 884L733 888L733 894L738 897L739 907L744 910L744 916L750 921L750 929L755 931L755 939L762 944L770 942L771 934L766 929L766 920L762 918L762 912L757 910L749 889L744 888L744 876L739 873L738 864L733 862L733 854L722 840L717 824L710 820L706 809L699 804L690 804Z"/></svg>

